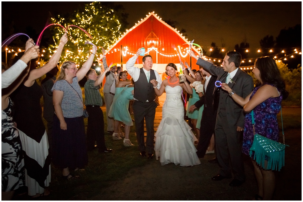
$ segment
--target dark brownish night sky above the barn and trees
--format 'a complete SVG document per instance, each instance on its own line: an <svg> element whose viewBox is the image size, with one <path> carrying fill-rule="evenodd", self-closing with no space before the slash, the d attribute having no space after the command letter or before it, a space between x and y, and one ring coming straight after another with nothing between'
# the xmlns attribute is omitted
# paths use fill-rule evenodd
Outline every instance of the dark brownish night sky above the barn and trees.
<svg viewBox="0 0 303 202"><path fill-rule="evenodd" d="M22 32L32 26L38 33L45 26L49 12L72 12L85 2L2 2L2 24L14 21ZM254 57L259 41L266 35L278 36L281 29L301 24L301 2L116 2L129 13L131 28L148 12L155 11L162 20L177 21L176 28L186 30L188 40L208 47L215 42L233 50L244 40ZM3 27L2 27L3 29ZM2 38L2 41L4 39ZM34 39L36 40L36 39ZM205 48L206 49L206 48Z"/></svg>

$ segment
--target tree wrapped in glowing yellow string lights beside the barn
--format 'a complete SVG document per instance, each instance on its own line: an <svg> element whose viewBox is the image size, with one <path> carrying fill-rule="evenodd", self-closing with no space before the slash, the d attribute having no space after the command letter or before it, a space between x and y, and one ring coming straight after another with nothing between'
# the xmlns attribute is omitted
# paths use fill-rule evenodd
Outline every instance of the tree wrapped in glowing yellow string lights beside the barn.
<svg viewBox="0 0 303 202"><path fill-rule="evenodd" d="M81 29L74 26L68 27L69 41L62 52L63 61L72 60L78 65L83 64L92 49L92 45L84 44L87 41L98 47L98 56L100 57L102 54L101 47L104 47L105 50L108 49L122 36L123 26L120 24L120 19L123 18L123 13L121 13L121 10L114 11L112 8L103 6L101 2L92 2L87 4L85 9L75 11L67 18L60 15L51 18L52 23L60 24L64 27L76 25L92 36L92 39L90 39ZM121 7L119 8L121 9ZM60 37L64 34L63 28L59 26L54 26L53 29L56 30L57 34L53 37L55 44L48 47L50 55L56 50ZM45 57L49 57L49 55Z"/></svg>

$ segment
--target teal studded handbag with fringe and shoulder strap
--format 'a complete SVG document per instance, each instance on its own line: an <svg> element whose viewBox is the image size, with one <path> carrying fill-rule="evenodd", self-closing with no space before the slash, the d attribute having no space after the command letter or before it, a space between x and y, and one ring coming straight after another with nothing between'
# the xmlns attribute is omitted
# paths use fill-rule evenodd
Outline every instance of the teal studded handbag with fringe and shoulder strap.
<svg viewBox="0 0 303 202"><path fill-rule="evenodd" d="M282 109L281 109L281 120L282 120ZM255 119L254 112L251 111L251 122L254 131L254 142L251 145L249 156L252 156L252 151L255 151L254 160L265 170L278 170L284 166L285 158L285 138L283 131L283 120L282 120L282 134L283 144L276 142L262 135L255 134ZM287 145L288 146L288 145ZM265 159L266 158L266 159ZM265 165L267 161L267 166Z"/></svg>

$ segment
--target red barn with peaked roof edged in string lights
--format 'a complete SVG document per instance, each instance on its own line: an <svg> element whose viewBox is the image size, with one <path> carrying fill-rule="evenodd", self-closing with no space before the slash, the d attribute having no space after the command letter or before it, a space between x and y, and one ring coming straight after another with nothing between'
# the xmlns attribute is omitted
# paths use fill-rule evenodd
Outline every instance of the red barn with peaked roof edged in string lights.
<svg viewBox="0 0 303 202"><path fill-rule="evenodd" d="M118 66L121 65L123 70L126 70L125 64L128 59L135 55L139 48L144 47L145 54L149 54L153 58L152 69L161 76L168 63L175 63L177 67L181 67L178 53L183 63L186 61L190 64L190 56L187 53L189 45L186 44L189 42L177 29L166 24L157 14L152 12L138 21L131 29L126 30L125 34L106 50L105 54L108 65L118 63ZM173 46L176 47L176 50ZM192 50L197 55L200 54L198 48L192 46ZM138 67L140 68L142 67L142 57L139 56ZM192 68L199 69L195 60L192 62Z"/></svg>

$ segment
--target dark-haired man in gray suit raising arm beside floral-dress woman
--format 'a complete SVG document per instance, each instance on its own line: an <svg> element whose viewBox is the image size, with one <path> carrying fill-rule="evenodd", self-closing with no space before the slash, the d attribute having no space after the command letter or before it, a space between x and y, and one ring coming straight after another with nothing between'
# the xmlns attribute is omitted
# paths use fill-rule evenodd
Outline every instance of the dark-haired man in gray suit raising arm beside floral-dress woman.
<svg viewBox="0 0 303 202"><path fill-rule="evenodd" d="M241 54L229 51L222 62L221 67L217 67L207 61L198 58L193 51L191 57L197 59L197 64L204 67L211 74L218 77L222 83L228 83L235 93L241 97L246 97L254 88L253 79L250 75L242 71ZM244 164L241 154L241 132L244 130L244 111L221 87L215 87L215 91L220 92L217 120L215 126L215 144L220 172L211 179L218 181L224 178L234 179L230 186L237 187L245 182ZM231 165L230 165L231 162Z"/></svg>

